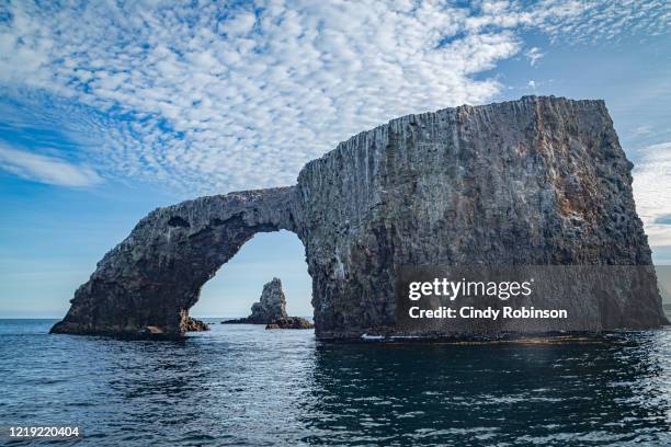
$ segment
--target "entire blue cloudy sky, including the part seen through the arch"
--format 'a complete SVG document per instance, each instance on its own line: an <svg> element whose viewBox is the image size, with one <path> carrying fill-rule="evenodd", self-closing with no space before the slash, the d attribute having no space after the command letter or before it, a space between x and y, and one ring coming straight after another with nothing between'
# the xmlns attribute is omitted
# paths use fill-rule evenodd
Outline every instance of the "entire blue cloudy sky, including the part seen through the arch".
<svg viewBox="0 0 671 447"><path fill-rule="evenodd" d="M291 185L410 113L527 94L603 99L653 260L671 264L671 3L0 0L0 318L59 318L148 211ZM192 314L244 316L293 233L257 236Z"/></svg>

